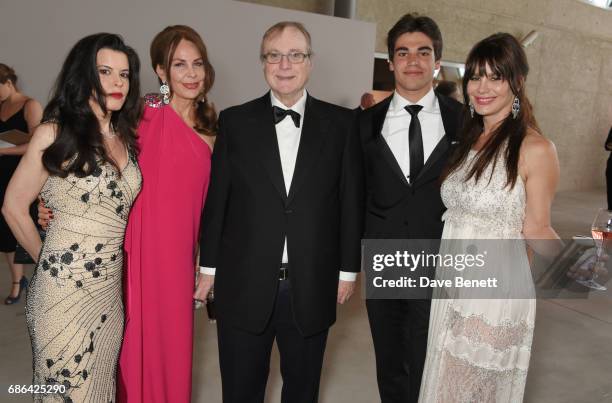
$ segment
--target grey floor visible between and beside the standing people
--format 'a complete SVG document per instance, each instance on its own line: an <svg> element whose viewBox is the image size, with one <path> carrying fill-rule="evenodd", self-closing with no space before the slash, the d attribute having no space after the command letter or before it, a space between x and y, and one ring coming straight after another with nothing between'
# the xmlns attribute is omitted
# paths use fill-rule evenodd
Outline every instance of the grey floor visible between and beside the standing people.
<svg viewBox="0 0 612 403"><path fill-rule="evenodd" d="M605 194L565 192L553 206L553 225L561 237L588 234ZM0 295L8 290L8 269L0 263ZM29 274L31 270L29 271ZM612 286L612 282L608 284ZM4 297L2 297L4 298ZM10 384L31 383L31 352L23 302L0 305L0 402L30 401L8 395ZM193 400L221 402L216 328L197 311ZM526 402L612 402L612 292L592 293L588 299L540 300ZM278 354L274 352L267 402L280 401ZM321 380L322 403L374 403L374 353L364 301L356 295L338 311L325 356Z"/></svg>

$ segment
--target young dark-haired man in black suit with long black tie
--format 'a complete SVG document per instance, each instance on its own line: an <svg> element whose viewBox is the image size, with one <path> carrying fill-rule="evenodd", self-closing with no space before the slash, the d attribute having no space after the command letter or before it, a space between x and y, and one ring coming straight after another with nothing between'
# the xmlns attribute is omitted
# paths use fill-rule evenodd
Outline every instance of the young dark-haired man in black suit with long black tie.
<svg viewBox="0 0 612 403"><path fill-rule="evenodd" d="M439 239L445 210L439 177L462 105L433 90L442 36L428 17L402 17L388 33L395 92L359 115L366 169L364 238ZM418 400L428 300L367 300L383 403Z"/></svg>

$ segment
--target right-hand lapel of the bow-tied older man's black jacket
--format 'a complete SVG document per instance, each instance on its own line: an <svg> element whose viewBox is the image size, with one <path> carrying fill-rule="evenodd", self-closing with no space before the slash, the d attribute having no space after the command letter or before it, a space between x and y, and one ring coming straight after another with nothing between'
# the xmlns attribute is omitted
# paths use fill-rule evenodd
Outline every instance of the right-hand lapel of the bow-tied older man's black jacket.
<svg viewBox="0 0 612 403"><path fill-rule="evenodd" d="M330 118L319 107L318 102L315 98L307 95L306 107L304 108L304 125L300 135L300 146L298 148L293 178L291 179L287 205L295 198L310 168L318 159L319 151L329 130Z"/></svg>

